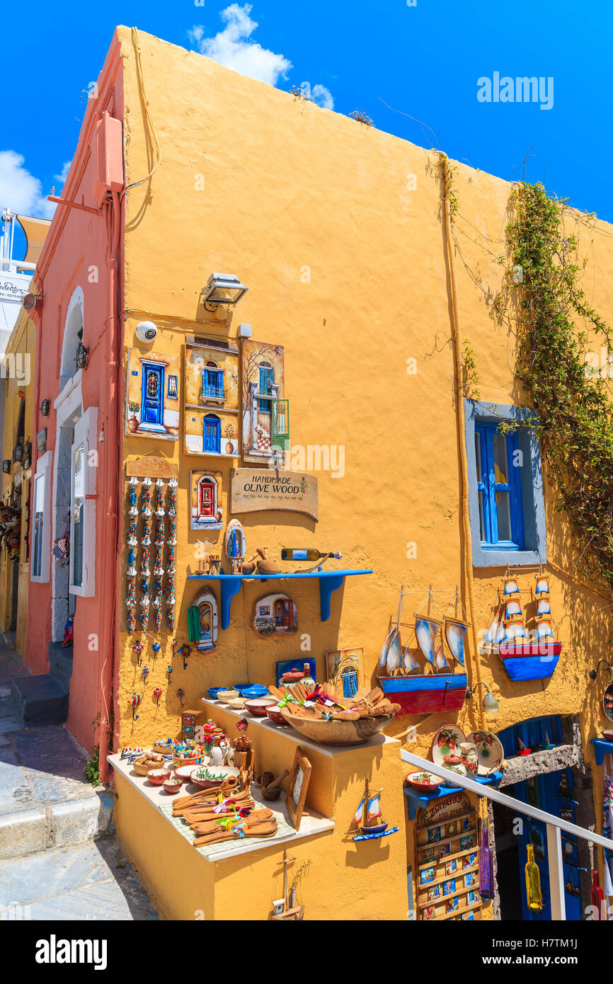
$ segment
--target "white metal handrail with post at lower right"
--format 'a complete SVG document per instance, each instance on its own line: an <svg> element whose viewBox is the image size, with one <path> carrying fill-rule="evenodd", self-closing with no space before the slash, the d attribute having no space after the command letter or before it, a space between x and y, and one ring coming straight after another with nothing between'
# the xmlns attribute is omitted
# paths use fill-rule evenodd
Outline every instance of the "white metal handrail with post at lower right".
<svg viewBox="0 0 613 984"><path fill-rule="evenodd" d="M514 796L507 796L506 793L501 793L498 789L494 789L493 786L482 785L480 782L475 782L473 779L468 779L457 773L454 773L453 779L450 780L449 769L446 769L444 766L437 766L436 763L422 759L418 755L413 755L412 752L407 752L406 749L400 750L400 759L402 762L410 766L415 766L417 769L433 772L434 775L438 775L439 778L446 779L448 782L453 781L455 786L460 786L467 792L476 793L477 796L486 796L494 803L501 803L503 806L511 807L517 813L524 814L526 817L532 817L534 820L539 820L546 825L551 919L553 922L566 920L562 830L573 834L575 837L581 837L582 840L597 844L598 847L607 847L609 850L613 850L613 840L610 840L608 837L603 837L601 834L594 833L592 830L586 830L584 827L578 827L577 824L571 824L567 820L555 817L552 813L545 813L544 810L538 810L528 803L522 803L521 800L515 799Z"/></svg>

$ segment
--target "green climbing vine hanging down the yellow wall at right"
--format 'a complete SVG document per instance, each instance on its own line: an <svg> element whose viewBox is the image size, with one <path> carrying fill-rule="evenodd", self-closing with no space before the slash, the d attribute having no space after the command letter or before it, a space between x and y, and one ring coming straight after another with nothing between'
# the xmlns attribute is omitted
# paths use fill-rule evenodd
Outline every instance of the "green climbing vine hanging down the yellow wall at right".
<svg viewBox="0 0 613 984"><path fill-rule="evenodd" d="M581 548L579 568L613 589L613 404L587 368L590 338L611 349L611 329L587 303L575 233L578 214L543 186L520 182L506 230L511 266L499 313L515 321L516 375L537 419L549 478ZM593 216L582 216L593 221Z"/></svg>

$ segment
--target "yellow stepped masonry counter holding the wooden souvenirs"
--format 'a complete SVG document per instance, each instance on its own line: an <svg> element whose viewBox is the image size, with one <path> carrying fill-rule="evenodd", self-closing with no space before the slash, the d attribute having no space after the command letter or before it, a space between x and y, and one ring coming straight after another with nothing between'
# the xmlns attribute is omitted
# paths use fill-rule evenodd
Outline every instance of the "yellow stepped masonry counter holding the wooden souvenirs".
<svg viewBox="0 0 613 984"><path fill-rule="evenodd" d="M298 890L305 919L406 919L403 833L355 842L356 831L349 832L366 780L372 789L383 789L381 806L390 828L402 828L400 743L376 735L364 745L316 745L291 727L251 715L247 732L241 732L236 729L240 712L215 701L205 700L204 706L207 716L231 738L245 733L251 738L256 774L290 771L300 746L312 767L305 810L294 830L285 792L277 801L264 803L259 786L253 784L253 798L276 813L275 837L196 848L189 830L181 829L182 821L171 817L173 797L137 775L118 755L109 756L117 789L117 833L162 915L207 921L269 919L273 899L283 893L280 862L286 849L290 883L298 868L310 862ZM192 791L195 787L185 786L186 793Z"/></svg>

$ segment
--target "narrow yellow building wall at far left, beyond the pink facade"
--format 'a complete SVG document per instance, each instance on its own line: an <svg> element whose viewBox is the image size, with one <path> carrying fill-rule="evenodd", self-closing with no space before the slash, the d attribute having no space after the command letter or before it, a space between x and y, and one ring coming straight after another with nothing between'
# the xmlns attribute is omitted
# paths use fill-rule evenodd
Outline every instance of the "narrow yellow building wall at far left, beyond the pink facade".
<svg viewBox="0 0 613 984"><path fill-rule="evenodd" d="M4 450L2 458L10 459L11 472L2 472L2 500L10 502L11 487L21 479L22 489L22 530L19 560L19 586L17 602L17 624L15 647L24 655L26 652L26 633L28 629L28 584L30 576L30 560L27 557L26 535L28 531L27 503L30 498L32 469L23 468L21 462L13 461L13 448L16 444L18 418L22 398L25 396L25 439L34 442L35 435L31 433L32 400L34 389L36 329L24 309L21 310L15 328L9 338L5 354L6 379L0 380L5 390L4 411ZM9 629L11 624L11 577L12 562L8 559L6 546L0 551L0 628Z"/></svg>

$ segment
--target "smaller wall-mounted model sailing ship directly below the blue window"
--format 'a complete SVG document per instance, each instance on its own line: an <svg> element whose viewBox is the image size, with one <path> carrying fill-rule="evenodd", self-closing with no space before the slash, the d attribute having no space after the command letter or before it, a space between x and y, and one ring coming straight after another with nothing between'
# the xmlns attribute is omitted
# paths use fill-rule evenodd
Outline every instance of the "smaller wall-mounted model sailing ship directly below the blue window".
<svg viewBox="0 0 613 984"><path fill-rule="evenodd" d="M549 579L539 572L534 586L534 628L526 630L518 579L509 574L504 579L502 599L496 606L482 649L500 656L512 680L543 680L558 665L562 643L555 638L549 599Z"/></svg>

